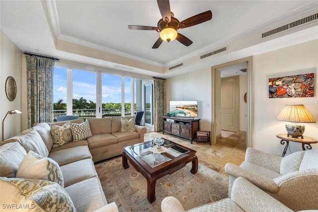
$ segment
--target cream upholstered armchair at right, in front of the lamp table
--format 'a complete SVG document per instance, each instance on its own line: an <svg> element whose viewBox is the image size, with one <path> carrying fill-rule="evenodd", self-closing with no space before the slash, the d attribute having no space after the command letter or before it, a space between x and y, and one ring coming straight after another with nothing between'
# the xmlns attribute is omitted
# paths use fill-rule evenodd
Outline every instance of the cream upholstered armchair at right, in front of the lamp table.
<svg viewBox="0 0 318 212"><path fill-rule="evenodd" d="M228 163L229 197L243 177L294 211L318 209L318 149L280 157L247 148L239 166Z"/></svg>

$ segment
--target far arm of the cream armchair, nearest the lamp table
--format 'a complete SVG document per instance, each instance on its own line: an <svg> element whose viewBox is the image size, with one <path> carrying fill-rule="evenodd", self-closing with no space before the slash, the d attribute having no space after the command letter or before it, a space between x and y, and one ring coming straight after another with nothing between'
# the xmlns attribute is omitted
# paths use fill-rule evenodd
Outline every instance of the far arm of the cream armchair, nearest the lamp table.
<svg viewBox="0 0 318 212"><path fill-rule="evenodd" d="M280 173L282 157L254 148L247 148L245 161Z"/></svg>

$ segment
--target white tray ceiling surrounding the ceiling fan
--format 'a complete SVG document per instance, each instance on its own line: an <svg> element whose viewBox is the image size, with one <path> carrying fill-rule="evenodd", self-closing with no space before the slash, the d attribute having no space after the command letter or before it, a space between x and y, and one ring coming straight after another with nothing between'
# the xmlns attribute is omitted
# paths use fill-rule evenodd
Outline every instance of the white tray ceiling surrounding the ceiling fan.
<svg viewBox="0 0 318 212"><path fill-rule="evenodd" d="M157 26L161 15L156 0L1 0L0 27L22 51L122 67L120 63L59 51L54 43L58 38L164 68L180 58L213 49L315 7L317 0L170 0L171 11L179 21L207 10L213 17L178 30L193 41L189 47L174 40L163 42L158 49L152 49L158 32L127 27ZM138 70L128 67L124 71Z"/></svg>

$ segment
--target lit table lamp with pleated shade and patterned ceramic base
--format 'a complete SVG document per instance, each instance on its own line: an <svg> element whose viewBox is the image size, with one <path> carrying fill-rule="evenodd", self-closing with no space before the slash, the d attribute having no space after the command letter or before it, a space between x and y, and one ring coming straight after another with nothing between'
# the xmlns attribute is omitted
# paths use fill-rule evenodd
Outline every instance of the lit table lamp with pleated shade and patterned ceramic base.
<svg viewBox="0 0 318 212"><path fill-rule="evenodd" d="M304 105L285 105L277 117L279 121L286 123L287 135L293 138L304 138L305 125L302 123L315 123L314 117Z"/></svg>

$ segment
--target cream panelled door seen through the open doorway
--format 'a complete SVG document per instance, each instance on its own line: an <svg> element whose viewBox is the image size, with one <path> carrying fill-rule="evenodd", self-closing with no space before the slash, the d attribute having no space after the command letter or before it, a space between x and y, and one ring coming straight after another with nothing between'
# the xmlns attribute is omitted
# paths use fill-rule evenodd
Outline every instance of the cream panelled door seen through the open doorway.
<svg viewBox="0 0 318 212"><path fill-rule="evenodd" d="M237 77L221 79L221 130L238 132Z"/></svg>

